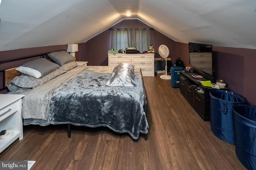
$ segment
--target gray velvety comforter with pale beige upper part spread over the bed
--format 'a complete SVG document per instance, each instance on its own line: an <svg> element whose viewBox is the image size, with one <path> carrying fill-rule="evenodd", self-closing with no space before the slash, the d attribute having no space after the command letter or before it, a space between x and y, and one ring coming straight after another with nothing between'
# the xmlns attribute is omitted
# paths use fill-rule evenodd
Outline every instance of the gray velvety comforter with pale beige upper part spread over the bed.
<svg viewBox="0 0 256 170"><path fill-rule="evenodd" d="M105 126L134 139L148 133L140 72L135 70L135 87L110 87L105 84L112 70L78 66L26 92L22 99L24 125Z"/></svg>

